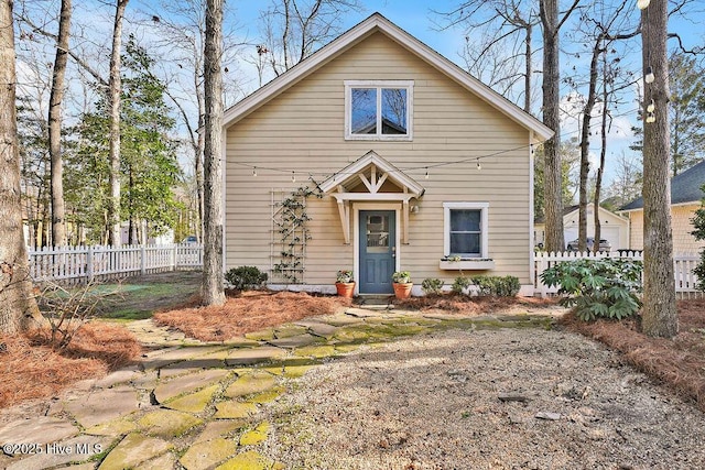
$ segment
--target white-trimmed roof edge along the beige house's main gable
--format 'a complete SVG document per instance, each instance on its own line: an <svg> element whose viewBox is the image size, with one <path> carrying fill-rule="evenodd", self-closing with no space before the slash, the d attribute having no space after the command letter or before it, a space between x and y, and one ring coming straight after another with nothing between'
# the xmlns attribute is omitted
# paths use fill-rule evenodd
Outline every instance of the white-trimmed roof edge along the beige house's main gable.
<svg viewBox="0 0 705 470"><path fill-rule="evenodd" d="M499 95L401 28L397 26L380 13L373 13L367 20L348 30L304 61L296 64L294 67L235 103L225 111L223 116L223 127L228 128L238 120L248 116L270 99L307 77L348 48L360 43L362 40L376 32L386 34L388 37L406 48L410 53L415 54L445 74L448 78L474 92L477 97L488 102L509 119L532 131L536 142L543 142L553 136L553 131L536 118L524 112L521 108L506 99L503 96Z"/></svg>

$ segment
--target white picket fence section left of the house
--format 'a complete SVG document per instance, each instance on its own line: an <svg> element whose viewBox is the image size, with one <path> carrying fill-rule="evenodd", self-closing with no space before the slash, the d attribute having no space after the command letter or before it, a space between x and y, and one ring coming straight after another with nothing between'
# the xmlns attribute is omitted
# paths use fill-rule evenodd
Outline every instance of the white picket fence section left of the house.
<svg viewBox="0 0 705 470"><path fill-rule="evenodd" d="M44 247L29 250L34 281L93 282L203 266L200 244Z"/></svg>

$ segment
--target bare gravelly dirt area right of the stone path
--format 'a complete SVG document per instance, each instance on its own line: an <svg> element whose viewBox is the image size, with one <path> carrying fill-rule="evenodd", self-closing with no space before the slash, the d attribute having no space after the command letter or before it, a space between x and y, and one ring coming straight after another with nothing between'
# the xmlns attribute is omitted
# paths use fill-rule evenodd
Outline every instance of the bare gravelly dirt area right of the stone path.
<svg viewBox="0 0 705 470"><path fill-rule="evenodd" d="M705 416L568 331L448 331L306 374L262 452L292 469L699 469Z"/></svg>

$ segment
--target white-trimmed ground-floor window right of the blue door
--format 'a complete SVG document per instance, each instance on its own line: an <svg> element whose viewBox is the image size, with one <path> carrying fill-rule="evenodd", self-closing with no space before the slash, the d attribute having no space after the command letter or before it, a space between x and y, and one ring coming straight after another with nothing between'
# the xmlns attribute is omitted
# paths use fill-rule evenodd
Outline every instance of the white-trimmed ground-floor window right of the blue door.
<svg viewBox="0 0 705 470"><path fill-rule="evenodd" d="M488 211L488 203L444 203L443 254L487 259Z"/></svg>

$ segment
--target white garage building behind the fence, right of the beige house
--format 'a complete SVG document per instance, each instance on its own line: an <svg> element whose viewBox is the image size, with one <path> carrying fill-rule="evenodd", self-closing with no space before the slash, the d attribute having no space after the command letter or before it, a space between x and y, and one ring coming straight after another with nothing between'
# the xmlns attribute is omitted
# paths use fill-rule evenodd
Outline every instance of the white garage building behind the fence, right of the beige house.
<svg viewBox="0 0 705 470"><path fill-rule="evenodd" d="M563 210L563 231L565 245L577 240L579 206L570 206ZM595 237L595 205L587 205L587 237ZM629 248L629 219L618 216L604 207L599 208L600 239L609 241L614 250ZM543 247L545 221L536 219L534 223L534 244Z"/></svg>

